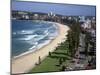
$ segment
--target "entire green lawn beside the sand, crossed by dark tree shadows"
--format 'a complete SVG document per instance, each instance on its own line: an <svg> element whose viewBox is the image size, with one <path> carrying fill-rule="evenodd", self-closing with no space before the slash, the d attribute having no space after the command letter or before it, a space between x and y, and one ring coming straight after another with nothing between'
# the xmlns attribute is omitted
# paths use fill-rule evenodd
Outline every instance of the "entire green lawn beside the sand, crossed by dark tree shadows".
<svg viewBox="0 0 100 75"><path fill-rule="evenodd" d="M57 50L51 53L51 56L47 56L41 64L34 67L29 73L41 73L41 72L57 72L61 71L62 66L59 65L59 59L65 58L66 60L62 63L68 65L71 57L67 55L66 46L59 46Z"/></svg>

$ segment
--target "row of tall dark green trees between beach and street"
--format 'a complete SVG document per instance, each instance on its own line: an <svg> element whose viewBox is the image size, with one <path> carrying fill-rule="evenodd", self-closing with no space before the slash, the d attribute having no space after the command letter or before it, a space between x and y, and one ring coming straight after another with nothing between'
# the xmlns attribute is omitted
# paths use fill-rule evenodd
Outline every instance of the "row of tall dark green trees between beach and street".
<svg viewBox="0 0 100 75"><path fill-rule="evenodd" d="M71 56L74 56L76 51L78 50L79 46L79 38L80 38L80 23L79 21L73 21L73 23L69 26L70 30L68 31L67 41L69 43L69 52L71 53Z"/></svg>

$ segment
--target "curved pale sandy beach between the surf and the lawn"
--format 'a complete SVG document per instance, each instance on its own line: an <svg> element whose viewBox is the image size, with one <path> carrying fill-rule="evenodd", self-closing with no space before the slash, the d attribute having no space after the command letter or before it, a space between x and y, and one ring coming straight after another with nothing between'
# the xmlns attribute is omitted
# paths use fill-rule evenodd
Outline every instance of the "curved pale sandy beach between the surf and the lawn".
<svg viewBox="0 0 100 75"><path fill-rule="evenodd" d="M54 49L66 39L67 31L69 27L56 23L59 27L59 35L52 40L48 45L42 47L41 49L31 52L29 54L18 57L17 59L12 59L12 74L15 73L26 73L32 69L36 63L38 63L39 56L43 60L48 52L53 52Z"/></svg>

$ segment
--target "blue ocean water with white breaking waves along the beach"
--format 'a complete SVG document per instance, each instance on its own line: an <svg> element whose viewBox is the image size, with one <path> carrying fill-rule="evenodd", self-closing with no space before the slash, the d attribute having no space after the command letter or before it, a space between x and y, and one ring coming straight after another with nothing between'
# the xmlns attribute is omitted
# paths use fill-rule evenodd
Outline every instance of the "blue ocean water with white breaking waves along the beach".
<svg viewBox="0 0 100 75"><path fill-rule="evenodd" d="M38 20L12 20L12 56L35 51L58 35L55 23Z"/></svg>

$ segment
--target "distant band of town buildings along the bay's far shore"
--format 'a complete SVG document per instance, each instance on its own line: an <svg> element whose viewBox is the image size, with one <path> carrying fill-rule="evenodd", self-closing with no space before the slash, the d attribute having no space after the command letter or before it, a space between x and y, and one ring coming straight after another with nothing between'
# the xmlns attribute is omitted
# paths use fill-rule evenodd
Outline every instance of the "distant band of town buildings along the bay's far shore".
<svg viewBox="0 0 100 75"><path fill-rule="evenodd" d="M49 13L40 13L40 12L22 12L22 11L12 11L12 19L19 20L44 20L44 21L53 21L59 23L66 23L68 21L68 16L63 16L60 14L55 14L53 12Z"/></svg>

